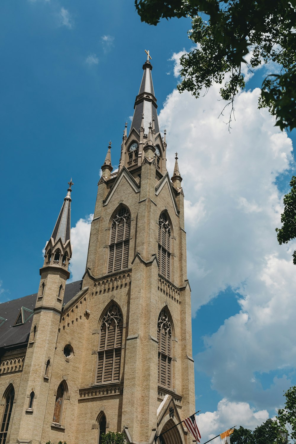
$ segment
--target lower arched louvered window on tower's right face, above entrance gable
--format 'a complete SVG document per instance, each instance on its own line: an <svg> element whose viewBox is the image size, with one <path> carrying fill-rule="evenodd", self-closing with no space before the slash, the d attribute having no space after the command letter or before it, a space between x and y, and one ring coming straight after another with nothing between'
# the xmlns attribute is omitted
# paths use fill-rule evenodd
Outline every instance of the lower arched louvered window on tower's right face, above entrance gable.
<svg viewBox="0 0 296 444"><path fill-rule="evenodd" d="M172 328L166 309L162 309L157 324L158 385L172 388Z"/></svg>

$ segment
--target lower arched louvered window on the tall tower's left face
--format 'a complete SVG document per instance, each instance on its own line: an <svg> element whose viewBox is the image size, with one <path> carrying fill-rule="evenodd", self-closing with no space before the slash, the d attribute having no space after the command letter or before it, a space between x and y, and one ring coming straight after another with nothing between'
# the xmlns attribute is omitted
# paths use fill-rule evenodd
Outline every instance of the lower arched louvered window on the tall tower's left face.
<svg viewBox="0 0 296 444"><path fill-rule="evenodd" d="M116 304L106 311L100 329L96 383L119 381L122 313Z"/></svg>

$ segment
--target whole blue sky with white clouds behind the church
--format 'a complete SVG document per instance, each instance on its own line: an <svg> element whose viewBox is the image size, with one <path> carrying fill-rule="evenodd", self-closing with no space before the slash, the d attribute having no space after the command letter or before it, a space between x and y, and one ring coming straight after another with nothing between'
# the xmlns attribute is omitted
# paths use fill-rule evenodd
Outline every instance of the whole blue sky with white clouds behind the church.
<svg viewBox="0 0 296 444"><path fill-rule="evenodd" d="M268 69L248 73L229 133L219 87L176 91L190 20L142 24L134 2L3 0L0 4L0 300L35 293L42 249L73 178L72 278L83 274L90 214L107 145L120 156L150 50L168 169L185 193L196 407L201 434L254 428L296 383L292 246L278 246L295 133L257 110ZM247 71L246 71L247 72ZM1 315L1 314L0 314ZM205 439L206 440L206 439Z"/></svg>

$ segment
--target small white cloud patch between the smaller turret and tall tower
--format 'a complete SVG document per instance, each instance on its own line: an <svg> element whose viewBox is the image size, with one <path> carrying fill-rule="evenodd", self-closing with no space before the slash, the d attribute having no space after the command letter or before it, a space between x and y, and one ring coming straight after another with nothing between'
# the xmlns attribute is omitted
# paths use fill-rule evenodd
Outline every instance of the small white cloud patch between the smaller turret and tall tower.
<svg viewBox="0 0 296 444"><path fill-rule="evenodd" d="M87 263L88 241L91 232L91 221L94 215L89 214L84 219L79 219L71 228L71 245L73 249L69 270L70 281L78 281L82 278Z"/></svg>

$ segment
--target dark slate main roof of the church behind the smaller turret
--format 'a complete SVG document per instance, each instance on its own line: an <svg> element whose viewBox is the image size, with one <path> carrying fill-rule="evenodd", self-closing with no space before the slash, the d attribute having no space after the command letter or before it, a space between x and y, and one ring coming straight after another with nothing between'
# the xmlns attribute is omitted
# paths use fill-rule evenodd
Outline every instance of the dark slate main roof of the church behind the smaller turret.
<svg viewBox="0 0 296 444"><path fill-rule="evenodd" d="M63 305L67 304L82 288L82 281L71 282L66 284ZM28 343L33 317L31 316L25 324L13 325L20 313L20 309L25 307L34 310L37 299L37 293L28 296L7 301L0 304L0 317L6 321L0 326L0 348L8 348L16 345Z"/></svg>

